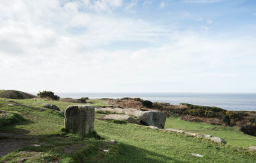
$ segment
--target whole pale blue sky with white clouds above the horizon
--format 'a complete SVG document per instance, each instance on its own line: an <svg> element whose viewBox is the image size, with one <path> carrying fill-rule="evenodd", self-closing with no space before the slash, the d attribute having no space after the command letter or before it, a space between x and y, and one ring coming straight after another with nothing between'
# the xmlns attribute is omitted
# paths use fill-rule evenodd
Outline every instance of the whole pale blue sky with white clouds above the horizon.
<svg viewBox="0 0 256 163"><path fill-rule="evenodd" d="M256 1L0 0L0 89L256 92Z"/></svg>

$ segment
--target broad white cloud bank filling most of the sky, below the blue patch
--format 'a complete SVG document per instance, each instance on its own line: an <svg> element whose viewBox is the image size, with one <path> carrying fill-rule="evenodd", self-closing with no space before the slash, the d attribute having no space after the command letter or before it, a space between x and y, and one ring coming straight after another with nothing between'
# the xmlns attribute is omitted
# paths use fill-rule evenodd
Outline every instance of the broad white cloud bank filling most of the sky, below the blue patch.
<svg viewBox="0 0 256 163"><path fill-rule="evenodd" d="M83 1L84 5L3 1L0 89L204 92L207 84L227 74L230 80L243 77L228 68L255 65L253 36L204 36L201 31L166 29L156 22L118 17L111 11L122 1L110 2L114 1ZM120 50L115 50L118 45L114 50L106 46L120 41L152 44Z"/></svg>

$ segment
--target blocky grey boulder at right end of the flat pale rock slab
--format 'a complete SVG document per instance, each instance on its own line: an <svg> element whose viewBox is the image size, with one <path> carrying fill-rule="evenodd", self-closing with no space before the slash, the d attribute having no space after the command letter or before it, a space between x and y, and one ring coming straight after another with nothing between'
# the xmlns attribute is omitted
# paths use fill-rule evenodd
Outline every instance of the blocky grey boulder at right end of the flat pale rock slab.
<svg viewBox="0 0 256 163"><path fill-rule="evenodd" d="M143 111L138 116L140 124L153 125L164 129L166 116L161 111Z"/></svg>

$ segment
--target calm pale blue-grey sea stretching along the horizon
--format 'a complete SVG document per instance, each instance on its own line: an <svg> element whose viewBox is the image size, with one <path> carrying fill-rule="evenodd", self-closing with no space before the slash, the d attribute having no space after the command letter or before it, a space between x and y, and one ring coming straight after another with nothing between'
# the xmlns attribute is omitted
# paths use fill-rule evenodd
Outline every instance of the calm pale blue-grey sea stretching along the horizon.
<svg viewBox="0 0 256 163"><path fill-rule="evenodd" d="M204 106L218 106L226 110L256 111L256 94L226 94L226 93L56 93L60 97L90 99L140 97L152 102L166 102L170 104L198 104Z"/></svg>

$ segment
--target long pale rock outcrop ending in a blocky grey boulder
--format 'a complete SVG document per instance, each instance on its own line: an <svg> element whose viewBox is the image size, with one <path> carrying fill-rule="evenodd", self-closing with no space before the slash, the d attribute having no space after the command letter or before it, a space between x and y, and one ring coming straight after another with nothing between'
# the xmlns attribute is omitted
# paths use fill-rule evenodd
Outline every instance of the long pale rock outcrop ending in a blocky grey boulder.
<svg viewBox="0 0 256 163"><path fill-rule="evenodd" d="M97 110L107 110L116 113L124 113L125 115L133 115L138 117L140 124L142 125L152 125L158 127L159 129L164 129L164 124L166 116L161 111L142 111L132 108L100 108Z"/></svg>

